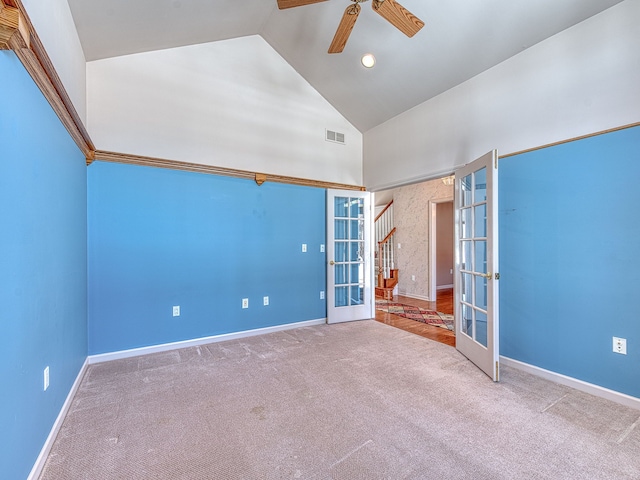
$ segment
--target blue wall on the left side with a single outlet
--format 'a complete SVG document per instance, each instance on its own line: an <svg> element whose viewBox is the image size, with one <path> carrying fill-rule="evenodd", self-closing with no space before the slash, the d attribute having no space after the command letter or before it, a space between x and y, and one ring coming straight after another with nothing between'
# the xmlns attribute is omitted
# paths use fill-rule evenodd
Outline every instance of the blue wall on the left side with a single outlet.
<svg viewBox="0 0 640 480"><path fill-rule="evenodd" d="M12 52L0 76L0 477L24 480L87 355L86 166Z"/></svg>

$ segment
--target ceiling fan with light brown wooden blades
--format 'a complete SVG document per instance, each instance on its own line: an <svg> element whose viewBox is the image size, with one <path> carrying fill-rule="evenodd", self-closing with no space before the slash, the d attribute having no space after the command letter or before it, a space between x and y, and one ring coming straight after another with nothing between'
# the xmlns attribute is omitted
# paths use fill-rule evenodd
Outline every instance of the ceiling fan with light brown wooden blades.
<svg viewBox="0 0 640 480"><path fill-rule="evenodd" d="M282 10L285 8L301 7L303 5L326 1L327 0L278 0L278 8ZM351 35L351 30L353 30L356 20L358 19L358 15L360 14L360 4L367 2L368 0L351 1L353 4L349 5L342 15L342 20L340 20L338 30L333 37L331 46L329 47L329 53L340 53L344 50L347 40L349 39L349 35ZM404 8L395 0L372 0L371 7L407 37L413 37L422 27L424 27L424 22L422 20L413 15L409 10Z"/></svg>

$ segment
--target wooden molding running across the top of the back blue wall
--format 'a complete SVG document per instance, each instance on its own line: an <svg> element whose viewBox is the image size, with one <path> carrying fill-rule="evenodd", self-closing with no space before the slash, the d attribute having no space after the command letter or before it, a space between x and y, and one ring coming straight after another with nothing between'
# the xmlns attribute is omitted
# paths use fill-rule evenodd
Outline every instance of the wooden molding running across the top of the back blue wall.
<svg viewBox="0 0 640 480"><path fill-rule="evenodd" d="M247 170L237 170L234 168L216 167L213 165L202 165L199 163L178 162L175 160L166 160L162 158L145 157L141 155L130 155L126 153L106 152L103 150L96 150L94 158L87 164L93 163L93 161L103 161L112 163L125 163L129 165L140 165L145 167L157 167L168 168L171 170L184 170L187 172L207 173L211 175L222 175L225 177L245 178L247 180L254 180L258 185L262 185L264 182L276 182L287 183L291 185L302 185L306 187L317 188L336 188L340 190L360 190L365 191L365 187L359 185L347 185L343 183L323 182L319 180L310 180L307 178L287 177L284 175L272 175L260 172L250 172Z"/></svg>

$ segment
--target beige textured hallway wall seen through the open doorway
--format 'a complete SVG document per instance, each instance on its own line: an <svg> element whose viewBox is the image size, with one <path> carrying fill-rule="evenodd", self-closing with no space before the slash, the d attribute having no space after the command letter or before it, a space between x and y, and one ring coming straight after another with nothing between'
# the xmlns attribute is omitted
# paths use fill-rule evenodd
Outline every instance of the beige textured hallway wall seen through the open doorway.
<svg viewBox="0 0 640 480"><path fill-rule="evenodd" d="M429 200L453 198L453 187L441 180L395 189L393 212L397 228L398 293L429 298ZM401 245L398 248L397 244ZM411 276L415 276L415 281Z"/></svg>

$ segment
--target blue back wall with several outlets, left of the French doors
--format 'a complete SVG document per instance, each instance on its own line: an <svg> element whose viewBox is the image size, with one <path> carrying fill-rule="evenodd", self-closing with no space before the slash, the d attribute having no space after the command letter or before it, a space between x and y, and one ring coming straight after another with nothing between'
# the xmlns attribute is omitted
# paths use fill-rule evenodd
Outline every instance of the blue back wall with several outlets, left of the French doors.
<svg viewBox="0 0 640 480"><path fill-rule="evenodd" d="M325 318L325 209L318 188L93 163L89 353Z"/></svg>

